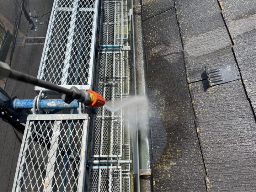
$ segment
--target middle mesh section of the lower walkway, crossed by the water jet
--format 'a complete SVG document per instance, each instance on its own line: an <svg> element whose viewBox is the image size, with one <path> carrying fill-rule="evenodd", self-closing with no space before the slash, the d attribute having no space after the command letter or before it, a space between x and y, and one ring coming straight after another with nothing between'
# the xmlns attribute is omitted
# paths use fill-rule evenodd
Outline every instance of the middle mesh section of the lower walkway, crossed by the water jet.
<svg viewBox="0 0 256 192"><path fill-rule="evenodd" d="M98 54L97 92L106 101L122 99L122 52ZM94 157L122 155L122 110L98 108L94 124Z"/></svg>

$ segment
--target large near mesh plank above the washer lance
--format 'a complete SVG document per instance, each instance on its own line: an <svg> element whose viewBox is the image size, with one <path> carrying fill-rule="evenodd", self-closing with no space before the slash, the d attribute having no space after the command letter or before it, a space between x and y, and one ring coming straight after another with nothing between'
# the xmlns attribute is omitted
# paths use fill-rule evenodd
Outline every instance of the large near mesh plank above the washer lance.
<svg viewBox="0 0 256 192"><path fill-rule="evenodd" d="M98 0L55 0L38 78L91 89ZM35 90L40 90L35 87Z"/></svg>

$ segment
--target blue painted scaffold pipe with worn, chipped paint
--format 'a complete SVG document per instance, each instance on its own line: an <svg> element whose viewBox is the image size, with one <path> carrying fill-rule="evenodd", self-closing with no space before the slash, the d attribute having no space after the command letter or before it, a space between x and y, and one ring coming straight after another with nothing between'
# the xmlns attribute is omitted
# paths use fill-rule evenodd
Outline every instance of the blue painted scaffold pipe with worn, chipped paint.
<svg viewBox="0 0 256 192"><path fill-rule="evenodd" d="M33 99L14 99L12 100L10 107L12 110L23 110L23 109L32 109ZM74 100L70 104L65 103L62 99L42 99L40 102L40 108L43 110L52 110L52 109L76 109L79 107L78 101Z"/></svg>

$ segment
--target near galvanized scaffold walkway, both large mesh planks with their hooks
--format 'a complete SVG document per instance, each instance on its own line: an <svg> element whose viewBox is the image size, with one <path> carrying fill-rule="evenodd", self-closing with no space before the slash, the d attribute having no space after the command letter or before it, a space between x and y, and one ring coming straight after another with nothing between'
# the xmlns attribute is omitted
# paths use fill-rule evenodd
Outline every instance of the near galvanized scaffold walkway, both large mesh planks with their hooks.
<svg viewBox="0 0 256 192"><path fill-rule="evenodd" d="M39 79L92 89L97 16L98 0L54 0ZM39 95L27 119L13 191L84 191L90 117L81 104L78 113L43 114L38 103L51 92L35 90Z"/></svg>

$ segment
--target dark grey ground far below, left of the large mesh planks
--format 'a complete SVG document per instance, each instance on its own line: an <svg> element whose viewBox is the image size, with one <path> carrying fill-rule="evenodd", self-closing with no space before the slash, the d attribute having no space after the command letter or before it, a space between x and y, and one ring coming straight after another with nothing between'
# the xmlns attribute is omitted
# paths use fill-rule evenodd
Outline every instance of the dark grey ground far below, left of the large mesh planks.
<svg viewBox="0 0 256 192"><path fill-rule="evenodd" d="M19 0L0 0L0 20L5 23L10 23L10 28L15 21L17 12L20 8L20 3L21 1ZM53 0L28 0L25 1L25 8L28 13L30 10L32 16L34 16L35 10L36 16L40 18L43 14L52 10L52 4ZM44 42L32 42L28 44L26 43L26 40L28 38L32 38L30 40L33 40L33 38L36 37L45 37L49 17L50 14L43 16L40 20L40 22L44 22L43 25L35 23L35 26L37 26L37 31L35 31L30 30L32 25L29 25L24 14L22 14L18 37L23 37L23 40L15 47L11 62L12 69L37 76ZM7 25L6 27L9 26ZM10 61L8 56L10 55L7 55L7 63ZM31 99L37 95L34 91L34 86L11 79L7 79L5 91L10 97L17 96L20 99ZM0 191L11 191L23 135L3 121L0 121L0 127Z"/></svg>

